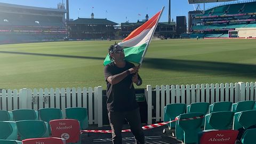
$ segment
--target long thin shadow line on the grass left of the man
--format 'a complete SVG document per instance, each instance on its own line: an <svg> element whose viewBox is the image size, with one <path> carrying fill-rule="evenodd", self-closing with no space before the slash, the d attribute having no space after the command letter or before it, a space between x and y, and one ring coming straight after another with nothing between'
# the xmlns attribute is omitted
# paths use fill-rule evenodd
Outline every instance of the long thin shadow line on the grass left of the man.
<svg viewBox="0 0 256 144"><path fill-rule="evenodd" d="M76 55L44 54L44 53L28 53L28 52L0 51L0 53L39 55L39 56L46 56L46 57L61 57L61 58L95 59L95 60L105 59L105 58L99 58L99 57L84 57L84 56L76 56Z"/></svg>

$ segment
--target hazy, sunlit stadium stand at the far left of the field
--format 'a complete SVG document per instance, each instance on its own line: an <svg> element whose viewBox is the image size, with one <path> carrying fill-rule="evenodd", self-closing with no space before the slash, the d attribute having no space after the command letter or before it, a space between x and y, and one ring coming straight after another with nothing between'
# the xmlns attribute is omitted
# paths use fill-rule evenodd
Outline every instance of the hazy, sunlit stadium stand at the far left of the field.
<svg viewBox="0 0 256 144"><path fill-rule="evenodd" d="M0 3L0 44L55 41L67 35L63 9Z"/></svg>

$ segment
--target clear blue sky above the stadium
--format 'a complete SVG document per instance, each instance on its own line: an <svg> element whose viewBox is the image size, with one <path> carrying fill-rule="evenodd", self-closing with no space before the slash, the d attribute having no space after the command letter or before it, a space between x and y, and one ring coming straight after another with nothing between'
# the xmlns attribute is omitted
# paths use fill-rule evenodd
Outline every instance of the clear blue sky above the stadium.
<svg viewBox="0 0 256 144"><path fill-rule="evenodd" d="M242 1L242 0L238 0ZM0 3L18 4L26 6L57 8L62 0L0 0ZM63 0L66 5L66 0ZM222 3L206 3L205 9ZM107 18L110 21L121 23L125 21L137 22L143 20L148 14L151 18L165 6L160 22L168 21L169 0L69 0L69 18ZM196 5L188 4L187 0L171 0L171 19L176 16L186 16L193 11ZM200 5L204 9L203 4Z"/></svg>

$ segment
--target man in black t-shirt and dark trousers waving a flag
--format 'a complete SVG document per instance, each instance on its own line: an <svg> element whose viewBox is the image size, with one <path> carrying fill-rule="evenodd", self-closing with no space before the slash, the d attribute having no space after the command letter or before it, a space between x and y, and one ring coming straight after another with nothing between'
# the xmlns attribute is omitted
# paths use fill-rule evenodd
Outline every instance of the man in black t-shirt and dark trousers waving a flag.
<svg viewBox="0 0 256 144"><path fill-rule="evenodd" d="M109 47L111 63L104 68L107 82L107 109L114 144L122 143L124 119L129 123L135 142L145 143L139 105L135 99L133 83L142 84L139 67L124 60L124 50L118 44Z"/></svg>

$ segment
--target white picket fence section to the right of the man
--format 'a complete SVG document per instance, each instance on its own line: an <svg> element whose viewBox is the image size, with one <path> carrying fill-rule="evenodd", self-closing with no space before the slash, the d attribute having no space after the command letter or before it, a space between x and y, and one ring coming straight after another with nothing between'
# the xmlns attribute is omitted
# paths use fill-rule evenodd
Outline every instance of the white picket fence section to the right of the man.
<svg viewBox="0 0 256 144"><path fill-rule="evenodd" d="M153 94L153 92L155 94ZM164 106L169 103L218 102L256 100L255 83L197 84L197 85L162 85L152 89L147 85L148 124L152 120L163 121ZM153 116L154 115L154 116Z"/></svg>

